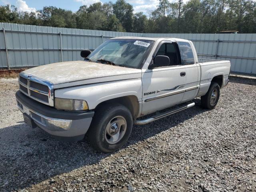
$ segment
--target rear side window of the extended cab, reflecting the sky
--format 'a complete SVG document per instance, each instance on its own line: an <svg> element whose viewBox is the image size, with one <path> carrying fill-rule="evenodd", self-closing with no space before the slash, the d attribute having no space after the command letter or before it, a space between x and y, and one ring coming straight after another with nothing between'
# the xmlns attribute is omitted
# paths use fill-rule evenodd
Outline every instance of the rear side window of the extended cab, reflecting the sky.
<svg viewBox="0 0 256 192"><path fill-rule="evenodd" d="M182 65L191 65L195 63L192 48L188 42L177 42L180 48L180 57Z"/></svg>

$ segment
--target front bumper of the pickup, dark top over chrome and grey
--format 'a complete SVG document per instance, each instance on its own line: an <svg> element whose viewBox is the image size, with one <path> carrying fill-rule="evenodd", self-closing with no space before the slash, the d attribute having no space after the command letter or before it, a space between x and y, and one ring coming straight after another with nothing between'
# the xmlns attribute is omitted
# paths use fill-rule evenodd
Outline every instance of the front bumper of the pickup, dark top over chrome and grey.
<svg viewBox="0 0 256 192"><path fill-rule="evenodd" d="M16 92L18 108L28 114L36 125L59 140L82 140L94 112L67 112L46 106Z"/></svg>

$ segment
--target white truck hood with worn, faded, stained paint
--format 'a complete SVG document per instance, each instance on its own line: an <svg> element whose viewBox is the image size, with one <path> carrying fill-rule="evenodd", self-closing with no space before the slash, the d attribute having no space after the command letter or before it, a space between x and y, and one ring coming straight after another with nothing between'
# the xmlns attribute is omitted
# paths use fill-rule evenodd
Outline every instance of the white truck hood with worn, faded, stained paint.
<svg viewBox="0 0 256 192"><path fill-rule="evenodd" d="M86 61L52 63L25 70L24 73L52 82L54 88L141 78L140 69Z"/></svg>

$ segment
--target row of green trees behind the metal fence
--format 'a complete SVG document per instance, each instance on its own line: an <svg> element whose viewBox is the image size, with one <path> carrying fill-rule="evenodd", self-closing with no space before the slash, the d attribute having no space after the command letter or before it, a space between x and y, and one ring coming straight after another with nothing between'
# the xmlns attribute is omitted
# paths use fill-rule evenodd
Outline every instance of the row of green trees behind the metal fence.
<svg viewBox="0 0 256 192"><path fill-rule="evenodd" d="M180 8L180 14L179 14ZM0 6L0 22L138 33L256 32L253 0L159 0L156 10L134 13L125 0L80 6L77 12L45 6L37 12L20 12L13 5Z"/></svg>

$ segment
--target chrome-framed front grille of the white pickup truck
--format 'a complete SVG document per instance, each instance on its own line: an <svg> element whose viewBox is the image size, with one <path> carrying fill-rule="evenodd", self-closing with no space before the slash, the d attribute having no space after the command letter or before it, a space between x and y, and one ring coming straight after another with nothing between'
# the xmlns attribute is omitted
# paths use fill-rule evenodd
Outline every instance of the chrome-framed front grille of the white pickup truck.
<svg viewBox="0 0 256 192"><path fill-rule="evenodd" d="M41 78L21 72L19 76L20 91L46 105L54 106L53 84Z"/></svg>

